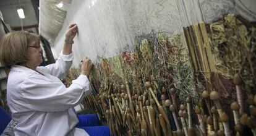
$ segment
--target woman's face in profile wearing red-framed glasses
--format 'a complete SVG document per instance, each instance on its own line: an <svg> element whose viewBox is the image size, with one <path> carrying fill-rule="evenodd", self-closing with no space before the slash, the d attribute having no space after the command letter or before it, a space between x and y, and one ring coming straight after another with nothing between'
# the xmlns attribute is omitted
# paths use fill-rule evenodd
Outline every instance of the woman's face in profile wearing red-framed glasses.
<svg viewBox="0 0 256 136"><path fill-rule="evenodd" d="M29 61L27 62L27 66L31 68L39 66L40 63L43 62L42 51L43 50L36 41L33 41L30 45L28 45L27 54Z"/></svg>

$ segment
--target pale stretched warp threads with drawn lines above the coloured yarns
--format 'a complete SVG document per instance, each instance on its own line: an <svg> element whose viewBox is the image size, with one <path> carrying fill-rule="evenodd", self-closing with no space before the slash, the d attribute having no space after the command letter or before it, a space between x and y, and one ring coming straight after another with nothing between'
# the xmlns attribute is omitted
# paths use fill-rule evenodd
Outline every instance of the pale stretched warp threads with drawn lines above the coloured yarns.
<svg viewBox="0 0 256 136"><path fill-rule="evenodd" d="M64 33L77 23L79 33L73 45L74 66L83 56L93 62L122 51L133 51L135 39L154 30L168 34L197 22L211 22L235 12L234 0L73 0L53 48L60 52ZM255 4L255 2L253 2ZM254 17L255 19L255 17ZM57 53L57 54L58 54Z"/></svg>

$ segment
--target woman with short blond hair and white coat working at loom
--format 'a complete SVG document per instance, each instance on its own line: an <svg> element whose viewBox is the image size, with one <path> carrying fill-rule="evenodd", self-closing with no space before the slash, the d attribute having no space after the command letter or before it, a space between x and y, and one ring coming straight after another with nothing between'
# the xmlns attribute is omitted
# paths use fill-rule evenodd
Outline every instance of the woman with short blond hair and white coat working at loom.
<svg viewBox="0 0 256 136"><path fill-rule="evenodd" d="M55 64L38 67L43 61L38 35L13 32L0 43L0 63L11 67L7 80L7 103L17 122L15 135L109 135L106 127L76 127L79 120L71 108L89 91L92 62L84 57L81 74L66 88L60 79L69 70L77 25L67 28L64 48Z"/></svg>

